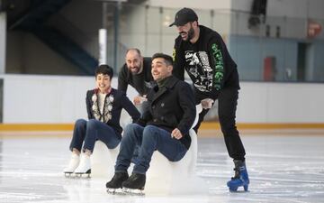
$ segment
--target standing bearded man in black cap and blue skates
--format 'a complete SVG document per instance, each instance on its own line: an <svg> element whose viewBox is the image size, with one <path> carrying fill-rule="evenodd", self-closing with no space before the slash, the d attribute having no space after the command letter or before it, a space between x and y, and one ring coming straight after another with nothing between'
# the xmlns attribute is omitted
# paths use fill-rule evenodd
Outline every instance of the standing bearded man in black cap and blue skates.
<svg viewBox="0 0 324 203"><path fill-rule="evenodd" d="M228 181L229 190L238 187L248 188L249 180L245 164L245 149L236 127L236 109L238 105L238 69L229 56L229 51L220 34L198 24L198 16L190 8L183 8L175 14L179 36L175 39L173 51L173 74L184 80L184 69L193 80L193 89L197 103L202 103L202 113L197 132L204 115L212 103L218 99L218 115L221 131L224 134L229 156L234 160L235 176Z"/></svg>

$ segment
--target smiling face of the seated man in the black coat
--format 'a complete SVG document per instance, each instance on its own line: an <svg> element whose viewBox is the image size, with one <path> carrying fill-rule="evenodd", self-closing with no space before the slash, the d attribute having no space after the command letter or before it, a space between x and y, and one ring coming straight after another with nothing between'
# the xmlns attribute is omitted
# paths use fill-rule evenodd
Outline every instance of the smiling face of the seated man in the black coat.
<svg viewBox="0 0 324 203"><path fill-rule="evenodd" d="M155 81L160 81L172 75L172 65L167 64L163 58L156 58L152 60L151 73Z"/></svg>

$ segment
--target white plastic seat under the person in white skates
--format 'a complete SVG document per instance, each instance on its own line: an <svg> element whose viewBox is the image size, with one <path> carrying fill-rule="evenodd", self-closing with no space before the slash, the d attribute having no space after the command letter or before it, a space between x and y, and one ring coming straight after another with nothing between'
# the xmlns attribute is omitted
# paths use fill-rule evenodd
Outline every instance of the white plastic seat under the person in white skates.
<svg viewBox="0 0 324 203"><path fill-rule="evenodd" d="M102 141L94 143L94 152L91 155L91 177L110 179L114 173L114 165L119 153L120 144L114 149L108 147Z"/></svg>

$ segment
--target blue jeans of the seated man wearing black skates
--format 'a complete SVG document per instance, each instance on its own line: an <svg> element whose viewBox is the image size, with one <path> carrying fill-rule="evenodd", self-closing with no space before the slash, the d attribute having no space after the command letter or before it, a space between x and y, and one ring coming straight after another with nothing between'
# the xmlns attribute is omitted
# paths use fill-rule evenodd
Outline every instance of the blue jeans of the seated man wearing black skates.
<svg viewBox="0 0 324 203"><path fill-rule="evenodd" d="M187 152L183 143L172 138L171 134L162 128L154 125L143 127L130 124L125 127L121 138L121 149L115 165L116 172L127 171L136 145L139 145L139 157L133 172L140 174L148 171L155 150L161 152L169 161L179 161Z"/></svg>

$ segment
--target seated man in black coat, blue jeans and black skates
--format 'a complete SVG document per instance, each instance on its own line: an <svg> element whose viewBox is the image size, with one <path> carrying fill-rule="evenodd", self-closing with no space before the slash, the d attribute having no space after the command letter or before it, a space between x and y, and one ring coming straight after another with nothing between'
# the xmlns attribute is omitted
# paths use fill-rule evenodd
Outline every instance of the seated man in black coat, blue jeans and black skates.
<svg viewBox="0 0 324 203"><path fill-rule="evenodd" d="M189 130L196 115L193 90L189 84L172 76L172 69L171 56L153 55L151 73L157 86L148 92L149 107L139 121L124 129L115 173L106 183L108 192L114 193L121 188L126 192L143 190L155 150L169 161L179 161L189 149ZM139 157L129 177L127 170L136 145L139 145Z"/></svg>

